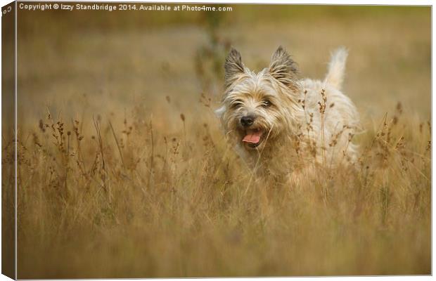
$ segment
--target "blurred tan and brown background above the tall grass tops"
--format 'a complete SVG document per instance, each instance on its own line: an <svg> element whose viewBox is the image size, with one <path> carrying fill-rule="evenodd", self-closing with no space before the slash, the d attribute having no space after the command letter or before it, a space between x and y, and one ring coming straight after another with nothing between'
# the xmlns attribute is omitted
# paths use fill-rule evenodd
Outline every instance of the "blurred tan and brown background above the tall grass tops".
<svg viewBox="0 0 436 281"><path fill-rule="evenodd" d="M227 7L232 11L20 10L21 124L34 124L46 107L84 119L139 103L150 114L207 114L198 100L201 93L219 100L230 45L250 69L262 70L280 44L302 77L316 79L331 51L347 47L345 93L367 122L397 102L430 117L430 7Z"/></svg>

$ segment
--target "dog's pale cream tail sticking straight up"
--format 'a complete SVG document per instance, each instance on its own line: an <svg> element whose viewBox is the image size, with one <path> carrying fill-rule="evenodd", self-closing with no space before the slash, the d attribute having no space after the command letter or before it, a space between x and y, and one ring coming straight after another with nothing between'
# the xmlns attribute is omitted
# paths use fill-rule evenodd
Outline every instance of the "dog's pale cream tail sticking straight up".
<svg viewBox="0 0 436 281"><path fill-rule="evenodd" d="M348 51L345 47L337 48L331 55L330 63L328 63L326 79L324 84L331 84L336 89L342 88L345 75L345 62L347 60Z"/></svg>

